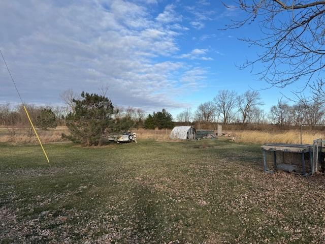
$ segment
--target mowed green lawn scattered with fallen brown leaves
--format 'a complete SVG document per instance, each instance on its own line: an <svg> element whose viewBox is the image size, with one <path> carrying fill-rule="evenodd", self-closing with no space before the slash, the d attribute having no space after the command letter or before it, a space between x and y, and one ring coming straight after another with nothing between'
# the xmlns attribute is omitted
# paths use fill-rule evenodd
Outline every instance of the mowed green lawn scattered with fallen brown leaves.
<svg viewBox="0 0 325 244"><path fill-rule="evenodd" d="M224 140L0 145L0 243L324 243L325 177Z"/></svg>

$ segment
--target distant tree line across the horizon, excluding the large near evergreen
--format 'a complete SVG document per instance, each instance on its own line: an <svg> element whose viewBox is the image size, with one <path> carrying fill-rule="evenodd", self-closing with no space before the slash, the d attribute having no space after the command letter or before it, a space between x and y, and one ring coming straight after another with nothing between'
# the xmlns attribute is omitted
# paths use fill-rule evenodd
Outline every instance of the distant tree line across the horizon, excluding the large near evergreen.
<svg viewBox="0 0 325 244"><path fill-rule="evenodd" d="M67 90L61 94L61 98L66 106L26 105L32 121L39 128L46 129L47 123L48 128L66 126L67 116L75 111L74 101L81 97L72 90ZM223 128L232 130L292 129L301 125L321 129L325 124L324 106L317 97L309 101L300 99L294 105L280 100L269 111L264 111L262 105L262 98L256 91L247 90L243 94L236 94L233 90L219 90L212 101L200 104L194 111L188 107L174 118L166 109L147 114L141 108L121 106L114 106L115 112L112 116L115 119L132 121L132 128L145 129L170 129L175 125L214 129L217 124L223 124ZM11 130L29 127L23 106L0 104L0 125Z"/></svg>

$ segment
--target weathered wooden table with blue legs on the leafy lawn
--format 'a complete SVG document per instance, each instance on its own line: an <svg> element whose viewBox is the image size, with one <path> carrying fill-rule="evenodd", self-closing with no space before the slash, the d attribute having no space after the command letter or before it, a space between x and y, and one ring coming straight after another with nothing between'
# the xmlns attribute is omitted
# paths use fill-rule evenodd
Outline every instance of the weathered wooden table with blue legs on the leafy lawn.
<svg viewBox="0 0 325 244"><path fill-rule="evenodd" d="M306 175L306 165L305 165L305 153L309 153L310 157L310 173L314 172L313 170L313 146L309 144L283 144L283 143L274 143L274 144L265 144L262 146L263 149L263 163L264 163L264 171L265 172L274 172L273 170L269 170L267 166L267 157L266 152L267 151L273 151L274 152L274 168L277 169L278 165L276 162L276 152L282 151L282 157L283 157L283 163L284 163L284 154L285 153L298 153L301 154L301 163L302 163L302 175ZM295 167L294 165L286 165L289 167L285 167L285 164L281 165L281 168L285 170L290 171L290 166ZM293 169L291 167L291 169Z"/></svg>

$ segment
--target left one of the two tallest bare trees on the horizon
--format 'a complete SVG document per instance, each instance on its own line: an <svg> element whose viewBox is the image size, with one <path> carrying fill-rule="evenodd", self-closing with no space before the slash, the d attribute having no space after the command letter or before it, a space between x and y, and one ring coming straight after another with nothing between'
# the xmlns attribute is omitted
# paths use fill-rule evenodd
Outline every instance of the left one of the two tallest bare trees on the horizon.
<svg viewBox="0 0 325 244"><path fill-rule="evenodd" d="M229 124L233 119L233 110L237 105L236 93L234 90L219 90L218 95L213 99L216 110L220 113L222 123Z"/></svg>

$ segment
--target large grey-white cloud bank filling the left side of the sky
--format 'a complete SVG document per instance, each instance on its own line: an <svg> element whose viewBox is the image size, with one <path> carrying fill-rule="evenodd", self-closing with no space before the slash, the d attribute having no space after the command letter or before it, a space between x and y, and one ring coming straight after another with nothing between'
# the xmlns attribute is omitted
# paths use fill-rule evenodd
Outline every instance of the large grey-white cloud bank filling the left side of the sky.
<svg viewBox="0 0 325 244"><path fill-rule="evenodd" d="M190 65L159 57L175 56L177 38L188 28L174 5L152 16L141 2L148 0L1 1L0 48L25 100L54 103L65 89L98 92L107 84L115 104L183 106L174 97L189 89L179 77L186 77ZM210 60L205 52L194 49L188 58ZM203 78L197 75L192 83ZM0 79L2 100L12 101L16 96L2 68Z"/></svg>

